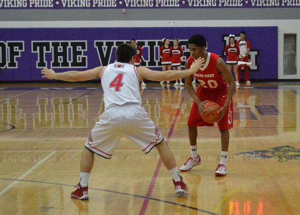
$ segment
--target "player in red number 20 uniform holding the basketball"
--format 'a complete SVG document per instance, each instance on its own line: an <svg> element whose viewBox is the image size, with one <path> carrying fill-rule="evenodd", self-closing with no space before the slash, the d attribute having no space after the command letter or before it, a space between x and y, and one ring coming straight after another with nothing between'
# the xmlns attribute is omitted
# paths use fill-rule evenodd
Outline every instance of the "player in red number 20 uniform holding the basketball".
<svg viewBox="0 0 300 215"><path fill-rule="evenodd" d="M197 126L213 126L213 123L205 122L200 113L204 111L204 103L213 101L220 105L220 119L217 121L221 133L221 159L214 172L216 176L224 176L227 173L226 160L228 154L229 131L233 127L234 79L227 69L225 62L219 55L205 52L206 40L202 35L193 35L188 39L190 57L185 63L185 69L189 68L196 59L204 58L205 64L197 73L193 74L200 85L197 92L191 84L192 75L185 77L185 87L194 102L190 109L187 125L191 156L180 167L181 171L188 171L202 161L197 153Z"/></svg>

